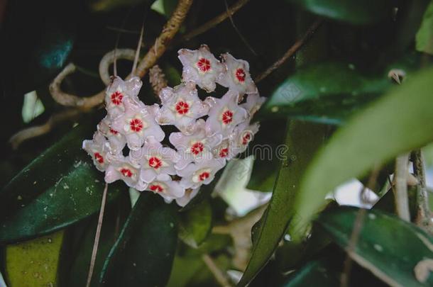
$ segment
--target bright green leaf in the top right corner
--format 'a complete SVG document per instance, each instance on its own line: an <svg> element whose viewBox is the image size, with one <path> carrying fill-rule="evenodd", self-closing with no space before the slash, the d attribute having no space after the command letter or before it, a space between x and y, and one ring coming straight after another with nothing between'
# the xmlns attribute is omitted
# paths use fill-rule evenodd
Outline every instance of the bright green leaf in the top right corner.
<svg viewBox="0 0 433 287"><path fill-rule="evenodd" d="M417 51L433 55L433 1L430 2L424 13L415 43Z"/></svg>

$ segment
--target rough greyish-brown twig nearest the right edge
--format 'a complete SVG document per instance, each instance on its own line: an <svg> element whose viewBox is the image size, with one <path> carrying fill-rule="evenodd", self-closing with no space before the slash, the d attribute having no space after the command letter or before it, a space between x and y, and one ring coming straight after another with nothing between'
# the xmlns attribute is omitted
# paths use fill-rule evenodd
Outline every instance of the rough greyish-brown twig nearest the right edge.
<svg viewBox="0 0 433 287"><path fill-rule="evenodd" d="M421 150L414 150L412 152L412 162L414 175L417 178L417 215L415 224L432 232L432 221L430 208L429 208L429 195L427 186L425 184L425 167L424 159Z"/></svg>

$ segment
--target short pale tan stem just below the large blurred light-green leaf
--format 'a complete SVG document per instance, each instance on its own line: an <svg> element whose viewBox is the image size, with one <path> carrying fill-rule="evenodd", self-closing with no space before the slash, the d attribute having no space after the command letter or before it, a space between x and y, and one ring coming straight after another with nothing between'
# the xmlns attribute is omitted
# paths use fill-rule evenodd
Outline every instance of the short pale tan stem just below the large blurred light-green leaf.
<svg viewBox="0 0 433 287"><path fill-rule="evenodd" d="M397 215L410 222L409 201L407 198L407 175L409 174L407 164L409 164L409 154L401 154L395 159L395 209Z"/></svg>

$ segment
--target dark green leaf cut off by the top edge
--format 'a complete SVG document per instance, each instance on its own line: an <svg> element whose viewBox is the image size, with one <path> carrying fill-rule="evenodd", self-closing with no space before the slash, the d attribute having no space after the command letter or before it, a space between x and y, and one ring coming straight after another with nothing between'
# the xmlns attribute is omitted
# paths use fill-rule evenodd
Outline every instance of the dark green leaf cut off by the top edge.
<svg viewBox="0 0 433 287"><path fill-rule="evenodd" d="M357 25L376 23L385 17L390 18L393 1L375 0L289 0L303 9L337 21Z"/></svg>

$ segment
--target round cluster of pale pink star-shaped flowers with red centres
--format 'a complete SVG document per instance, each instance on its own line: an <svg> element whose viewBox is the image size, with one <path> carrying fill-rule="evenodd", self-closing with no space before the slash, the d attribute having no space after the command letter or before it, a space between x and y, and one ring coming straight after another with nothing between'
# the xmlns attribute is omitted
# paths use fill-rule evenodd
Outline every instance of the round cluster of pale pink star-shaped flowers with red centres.
<svg viewBox="0 0 433 287"><path fill-rule="evenodd" d="M246 61L224 54L220 62L206 45L180 50L179 59L182 83L163 89L160 105L138 99L142 83L137 77L114 78L106 90L107 116L83 148L105 171L107 183L122 180L185 206L227 160L246 150L258 131L251 116L264 98ZM197 86L211 93L216 84L228 88L224 96L199 99ZM163 125L178 131L166 135Z"/></svg>

